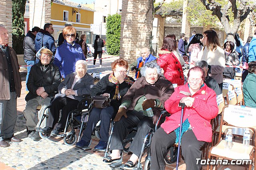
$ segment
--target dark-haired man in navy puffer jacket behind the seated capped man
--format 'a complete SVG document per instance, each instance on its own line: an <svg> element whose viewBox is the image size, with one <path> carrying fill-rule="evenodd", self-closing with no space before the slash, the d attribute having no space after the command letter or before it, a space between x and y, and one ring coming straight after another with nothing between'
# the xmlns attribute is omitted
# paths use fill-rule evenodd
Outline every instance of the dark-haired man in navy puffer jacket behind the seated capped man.
<svg viewBox="0 0 256 170"><path fill-rule="evenodd" d="M54 28L52 24L50 23L44 24L44 30L40 29L39 32L36 34L36 39L35 39L36 52L38 52L40 48L44 46L50 49L53 55L55 55L56 46L55 46L55 40L52 36L53 32L54 32ZM38 63L38 59L36 59L36 63Z"/></svg>

